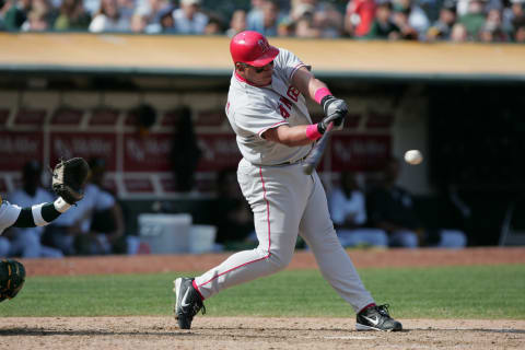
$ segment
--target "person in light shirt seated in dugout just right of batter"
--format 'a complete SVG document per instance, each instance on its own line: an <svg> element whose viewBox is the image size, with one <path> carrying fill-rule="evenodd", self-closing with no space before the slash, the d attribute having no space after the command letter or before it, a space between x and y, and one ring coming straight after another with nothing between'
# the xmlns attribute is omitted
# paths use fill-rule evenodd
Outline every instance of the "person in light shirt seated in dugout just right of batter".
<svg viewBox="0 0 525 350"><path fill-rule="evenodd" d="M331 220L343 247L370 245L388 247L388 236L380 229L366 226L364 194L358 186L354 174L341 174L341 185L328 196Z"/></svg>

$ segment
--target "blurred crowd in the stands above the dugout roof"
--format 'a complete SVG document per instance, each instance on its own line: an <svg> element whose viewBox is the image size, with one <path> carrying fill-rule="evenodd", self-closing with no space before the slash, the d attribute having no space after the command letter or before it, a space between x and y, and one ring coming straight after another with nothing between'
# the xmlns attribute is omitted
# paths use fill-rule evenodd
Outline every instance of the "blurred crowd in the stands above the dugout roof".
<svg viewBox="0 0 525 350"><path fill-rule="evenodd" d="M0 31L525 43L525 0L0 0Z"/></svg>

